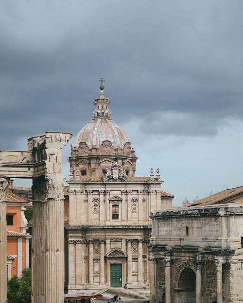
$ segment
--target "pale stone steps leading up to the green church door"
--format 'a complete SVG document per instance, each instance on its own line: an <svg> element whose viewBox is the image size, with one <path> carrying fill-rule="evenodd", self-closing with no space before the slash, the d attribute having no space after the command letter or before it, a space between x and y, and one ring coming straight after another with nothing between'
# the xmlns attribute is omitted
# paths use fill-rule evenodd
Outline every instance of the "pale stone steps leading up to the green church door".
<svg viewBox="0 0 243 303"><path fill-rule="evenodd" d="M123 287L111 287L108 289L104 289L102 292L100 292L100 294L103 295L103 298L91 299L91 302L107 303L107 301L110 300L110 302L112 303L111 298L115 295L118 295L119 297L121 297L121 300L118 300L119 303L149 303L149 298L140 296L136 292L130 289L124 289Z"/></svg>

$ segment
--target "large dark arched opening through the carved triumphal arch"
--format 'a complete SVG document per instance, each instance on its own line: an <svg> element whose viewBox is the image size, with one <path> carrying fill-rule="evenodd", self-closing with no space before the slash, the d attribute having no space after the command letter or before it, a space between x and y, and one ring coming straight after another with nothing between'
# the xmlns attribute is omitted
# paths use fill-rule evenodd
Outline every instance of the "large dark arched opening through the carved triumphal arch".
<svg viewBox="0 0 243 303"><path fill-rule="evenodd" d="M176 297L177 303L196 302L196 274L192 269L186 268L181 272Z"/></svg>

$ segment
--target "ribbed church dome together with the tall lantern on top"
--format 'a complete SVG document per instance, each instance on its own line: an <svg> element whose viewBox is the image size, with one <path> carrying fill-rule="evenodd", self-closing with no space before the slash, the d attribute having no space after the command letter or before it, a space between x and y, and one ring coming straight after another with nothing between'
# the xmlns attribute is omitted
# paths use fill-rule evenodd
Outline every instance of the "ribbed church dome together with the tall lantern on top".
<svg viewBox="0 0 243 303"><path fill-rule="evenodd" d="M126 132L110 119L110 101L104 97L104 86L100 87L100 97L94 101L95 110L93 120L90 121L76 137L74 146L77 148L80 142L85 142L89 148L99 148L104 140L111 141L116 149L123 148L126 142L131 142Z"/></svg>

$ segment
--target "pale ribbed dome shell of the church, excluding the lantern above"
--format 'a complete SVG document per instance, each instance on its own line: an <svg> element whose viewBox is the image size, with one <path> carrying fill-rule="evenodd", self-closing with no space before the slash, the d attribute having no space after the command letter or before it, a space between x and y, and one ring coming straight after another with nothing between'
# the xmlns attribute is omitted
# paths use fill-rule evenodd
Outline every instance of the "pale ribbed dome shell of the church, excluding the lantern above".
<svg viewBox="0 0 243 303"><path fill-rule="evenodd" d="M95 118L90 121L77 135L74 146L86 142L89 148L99 148L104 140L111 141L114 148L124 146L130 139L126 132L111 119Z"/></svg>

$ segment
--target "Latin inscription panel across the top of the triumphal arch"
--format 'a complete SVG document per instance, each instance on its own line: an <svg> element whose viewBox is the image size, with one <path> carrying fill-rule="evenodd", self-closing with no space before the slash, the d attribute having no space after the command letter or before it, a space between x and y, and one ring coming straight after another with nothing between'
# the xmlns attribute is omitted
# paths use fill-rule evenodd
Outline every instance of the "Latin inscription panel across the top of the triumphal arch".
<svg viewBox="0 0 243 303"><path fill-rule="evenodd" d="M159 236L220 236L219 218L178 218L158 221Z"/></svg>

